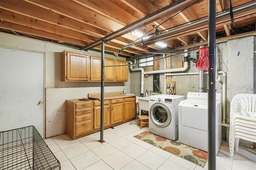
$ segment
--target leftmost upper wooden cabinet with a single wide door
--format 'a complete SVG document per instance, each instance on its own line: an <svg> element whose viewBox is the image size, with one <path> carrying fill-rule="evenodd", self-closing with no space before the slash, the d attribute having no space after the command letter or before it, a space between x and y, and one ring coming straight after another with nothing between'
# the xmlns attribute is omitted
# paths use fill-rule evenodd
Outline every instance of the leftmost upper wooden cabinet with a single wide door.
<svg viewBox="0 0 256 170"><path fill-rule="evenodd" d="M62 81L88 81L89 56L86 54L62 52Z"/></svg>

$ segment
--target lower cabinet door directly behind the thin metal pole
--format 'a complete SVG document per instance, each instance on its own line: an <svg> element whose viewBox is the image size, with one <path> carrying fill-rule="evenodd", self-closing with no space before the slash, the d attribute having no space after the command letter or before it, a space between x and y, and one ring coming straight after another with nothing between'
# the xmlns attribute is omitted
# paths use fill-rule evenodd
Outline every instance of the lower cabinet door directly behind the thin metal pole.
<svg viewBox="0 0 256 170"><path fill-rule="evenodd" d="M104 127L110 125L109 105L104 105ZM94 107L94 129L100 128L100 106Z"/></svg>

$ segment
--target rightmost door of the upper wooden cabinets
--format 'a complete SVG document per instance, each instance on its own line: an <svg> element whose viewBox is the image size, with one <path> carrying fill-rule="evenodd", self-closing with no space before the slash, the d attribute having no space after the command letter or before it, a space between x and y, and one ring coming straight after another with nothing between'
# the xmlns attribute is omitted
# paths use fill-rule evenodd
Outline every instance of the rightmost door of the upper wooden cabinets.
<svg viewBox="0 0 256 170"><path fill-rule="evenodd" d="M116 81L127 82L128 81L128 62L122 60L116 60ZM125 65L125 66L122 66Z"/></svg>

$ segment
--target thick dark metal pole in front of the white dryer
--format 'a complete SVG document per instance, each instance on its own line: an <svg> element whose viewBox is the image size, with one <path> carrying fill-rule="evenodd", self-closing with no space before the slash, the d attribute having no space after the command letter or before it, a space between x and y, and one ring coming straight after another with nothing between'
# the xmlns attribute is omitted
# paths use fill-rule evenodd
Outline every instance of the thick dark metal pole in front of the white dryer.
<svg viewBox="0 0 256 170"><path fill-rule="evenodd" d="M216 91L215 91L215 48L216 48L216 0L208 0L208 169L216 170Z"/></svg>

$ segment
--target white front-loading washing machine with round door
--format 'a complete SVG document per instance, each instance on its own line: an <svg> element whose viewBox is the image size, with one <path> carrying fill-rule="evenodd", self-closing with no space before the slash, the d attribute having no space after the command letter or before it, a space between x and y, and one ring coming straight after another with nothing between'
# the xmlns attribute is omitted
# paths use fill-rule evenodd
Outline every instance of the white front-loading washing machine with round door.
<svg viewBox="0 0 256 170"><path fill-rule="evenodd" d="M184 96L159 94L149 96L149 131L161 137L178 138L178 104Z"/></svg>

